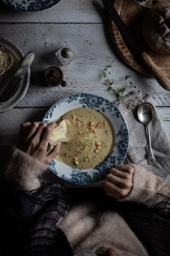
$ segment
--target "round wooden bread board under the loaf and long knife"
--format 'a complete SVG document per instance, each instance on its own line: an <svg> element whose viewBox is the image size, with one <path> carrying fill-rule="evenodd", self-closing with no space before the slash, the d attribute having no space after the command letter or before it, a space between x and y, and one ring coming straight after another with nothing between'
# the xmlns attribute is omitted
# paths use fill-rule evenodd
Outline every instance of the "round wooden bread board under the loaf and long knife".
<svg viewBox="0 0 170 256"><path fill-rule="evenodd" d="M128 26L132 33L143 42L144 51L151 57L154 63L166 74L166 76L170 77L170 55L163 55L153 51L142 38L142 20L149 9L141 6L140 4L137 4L133 0L115 0L113 2L114 7L123 19L124 23ZM126 61L126 63L130 67L134 68L140 73L145 74L149 77L153 77L149 69L142 63L140 59L133 55L132 50L129 49L128 46L125 44L119 29L111 20L111 18L109 21L109 26L112 40L116 46L117 51L124 59L124 61Z"/></svg>

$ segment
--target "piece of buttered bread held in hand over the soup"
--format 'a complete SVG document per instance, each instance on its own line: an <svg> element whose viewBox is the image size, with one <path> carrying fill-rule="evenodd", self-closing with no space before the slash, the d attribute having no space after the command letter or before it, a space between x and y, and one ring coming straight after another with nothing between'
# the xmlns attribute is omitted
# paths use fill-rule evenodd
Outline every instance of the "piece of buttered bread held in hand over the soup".
<svg viewBox="0 0 170 256"><path fill-rule="evenodd" d="M53 129L49 144L52 146L57 145L59 142L67 142L67 126L70 124L70 121L67 119L62 120L58 125Z"/></svg>

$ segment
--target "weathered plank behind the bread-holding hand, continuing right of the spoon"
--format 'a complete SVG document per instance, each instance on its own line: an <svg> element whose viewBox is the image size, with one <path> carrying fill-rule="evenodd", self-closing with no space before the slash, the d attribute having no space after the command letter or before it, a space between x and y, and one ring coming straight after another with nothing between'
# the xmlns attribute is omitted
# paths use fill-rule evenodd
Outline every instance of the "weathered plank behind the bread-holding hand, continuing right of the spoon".
<svg viewBox="0 0 170 256"><path fill-rule="evenodd" d="M14 108L0 114L1 147L11 146L17 142L20 124L24 122L42 121L46 108ZM170 139L170 108L157 108L161 120Z"/></svg>

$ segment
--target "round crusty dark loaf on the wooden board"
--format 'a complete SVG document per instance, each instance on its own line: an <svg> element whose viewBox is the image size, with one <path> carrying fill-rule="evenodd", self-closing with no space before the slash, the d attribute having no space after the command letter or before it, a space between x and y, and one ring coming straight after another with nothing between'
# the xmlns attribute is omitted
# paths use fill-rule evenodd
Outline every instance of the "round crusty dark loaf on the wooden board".
<svg viewBox="0 0 170 256"><path fill-rule="evenodd" d="M170 0L154 5L142 23L142 35L152 50L170 53Z"/></svg>

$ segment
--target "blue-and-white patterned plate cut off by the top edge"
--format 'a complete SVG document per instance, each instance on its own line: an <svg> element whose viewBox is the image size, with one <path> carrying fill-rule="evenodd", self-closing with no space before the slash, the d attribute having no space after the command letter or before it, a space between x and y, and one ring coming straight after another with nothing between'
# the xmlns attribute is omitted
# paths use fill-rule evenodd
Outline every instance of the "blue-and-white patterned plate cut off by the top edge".
<svg viewBox="0 0 170 256"><path fill-rule="evenodd" d="M49 9L62 0L1 0L12 9L21 12L40 12Z"/></svg>

